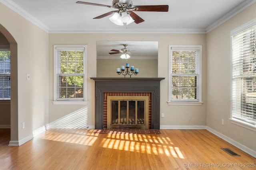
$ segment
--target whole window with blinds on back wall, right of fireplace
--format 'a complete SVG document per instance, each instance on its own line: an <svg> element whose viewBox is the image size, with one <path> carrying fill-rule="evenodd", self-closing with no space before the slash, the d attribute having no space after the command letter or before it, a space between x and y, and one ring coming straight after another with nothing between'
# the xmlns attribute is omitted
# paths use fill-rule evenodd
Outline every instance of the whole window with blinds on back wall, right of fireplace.
<svg viewBox="0 0 256 170"><path fill-rule="evenodd" d="M169 101L176 105L202 105L202 46L169 45Z"/></svg>

